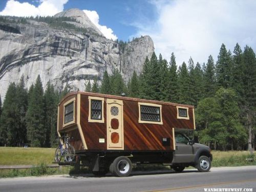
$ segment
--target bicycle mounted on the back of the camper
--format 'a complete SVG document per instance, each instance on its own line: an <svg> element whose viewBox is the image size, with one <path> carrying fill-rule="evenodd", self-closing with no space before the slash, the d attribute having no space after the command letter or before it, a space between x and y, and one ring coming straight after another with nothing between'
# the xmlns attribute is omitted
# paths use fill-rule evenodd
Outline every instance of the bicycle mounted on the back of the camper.
<svg viewBox="0 0 256 192"><path fill-rule="evenodd" d="M75 159L75 148L70 144L70 138L66 136L59 137L60 143L55 151L55 162L59 163L64 157L66 162L72 162ZM64 140L64 142L63 142Z"/></svg>

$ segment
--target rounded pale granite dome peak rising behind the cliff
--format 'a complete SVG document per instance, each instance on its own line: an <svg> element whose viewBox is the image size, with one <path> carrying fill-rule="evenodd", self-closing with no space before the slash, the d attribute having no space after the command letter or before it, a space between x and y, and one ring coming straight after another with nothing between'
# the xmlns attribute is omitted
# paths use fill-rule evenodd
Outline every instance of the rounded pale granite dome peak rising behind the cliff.
<svg viewBox="0 0 256 192"><path fill-rule="evenodd" d="M100 32L100 30L92 23L90 18L87 16L86 13L84 13L80 9L68 9L66 11L62 11L60 13L57 13L54 15L54 17L71 17L77 20L76 22L67 22L67 23L72 23L73 25L77 27L82 27L82 28L89 28L92 29L93 31L97 32L99 35L103 34Z"/></svg>

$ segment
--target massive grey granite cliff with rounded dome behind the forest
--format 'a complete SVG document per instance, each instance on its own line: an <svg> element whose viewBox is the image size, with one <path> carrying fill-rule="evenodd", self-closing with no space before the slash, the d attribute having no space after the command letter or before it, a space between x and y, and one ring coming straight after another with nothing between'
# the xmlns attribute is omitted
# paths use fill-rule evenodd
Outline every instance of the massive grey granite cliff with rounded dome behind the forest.
<svg viewBox="0 0 256 192"><path fill-rule="evenodd" d="M154 44L150 36L135 38L120 47L107 39L87 15L78 9L58 13L62 22L78 30L53 27L35 19L2 17L0 19L0 94L2 100L10 82L24 75L29 88L38 75L45 88L50 81L62 90L84 90L84 83L103 72L117 68L125 81L135 70L139 73L146 57L151 57ZM72 20L65 18L70 17ZM84 30L79 30L84 29Z"/></svg>

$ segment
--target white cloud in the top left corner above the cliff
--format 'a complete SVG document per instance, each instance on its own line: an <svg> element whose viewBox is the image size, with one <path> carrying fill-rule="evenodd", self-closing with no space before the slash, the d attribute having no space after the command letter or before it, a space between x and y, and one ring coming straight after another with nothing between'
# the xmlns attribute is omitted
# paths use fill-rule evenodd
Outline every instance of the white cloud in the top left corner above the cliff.
<svg viewBox="0 0 256 192"><path fill-rule="evenodd" d="M53 16L63 11L63 6L68 0L40 0L39 6L35 7L27 2L19 3L15 0L8 0L6 7L0 15L11 16Z"/></svg>

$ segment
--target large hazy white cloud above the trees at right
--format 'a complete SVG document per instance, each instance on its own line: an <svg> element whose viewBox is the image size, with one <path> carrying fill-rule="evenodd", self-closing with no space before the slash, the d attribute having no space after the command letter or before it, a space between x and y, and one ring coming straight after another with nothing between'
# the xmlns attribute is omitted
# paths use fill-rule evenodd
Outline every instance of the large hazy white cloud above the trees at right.
<svg viewBox="0 0 256 192"><path fill-rule="evenodd" d="M156 53L169 60L172 52L178 65L207 62L211 54L217 60L221 44L233 51L238 42L256 51L255 1L153 1L159 18L155 23L134 23L137 36L153 38ZM254 46L254 47L253 47Z"/></svg>

